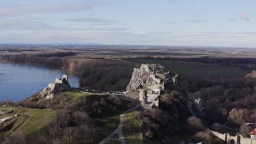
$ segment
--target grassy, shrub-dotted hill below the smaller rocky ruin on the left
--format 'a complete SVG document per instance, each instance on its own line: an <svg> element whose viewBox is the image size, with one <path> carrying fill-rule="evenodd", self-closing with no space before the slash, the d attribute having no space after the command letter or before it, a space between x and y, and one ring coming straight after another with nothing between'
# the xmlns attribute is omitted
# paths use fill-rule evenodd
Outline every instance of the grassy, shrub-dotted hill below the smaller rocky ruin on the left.
<svg viewBox="0 0 256 144"><path fill-rule="evenodd" d="M119 114L133 103L106 94L66 91L52 100L26 99L13 105L21 107L9 107L13 113L7 116L19 116L0 127L5 143L99 143L118 127Z"/></svg>

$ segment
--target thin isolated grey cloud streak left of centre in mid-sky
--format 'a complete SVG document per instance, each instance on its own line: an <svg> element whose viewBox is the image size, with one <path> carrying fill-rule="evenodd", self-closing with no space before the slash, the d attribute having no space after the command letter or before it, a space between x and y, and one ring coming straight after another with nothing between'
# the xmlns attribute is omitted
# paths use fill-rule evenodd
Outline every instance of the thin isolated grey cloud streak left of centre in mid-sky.
<svg viewBox="0 0 256 144"><path fill-rule="evenodd" d="M75 18L75 19L65 19L64 21L93 22L93 23L114 23L114 22L117 22L115 20L98 19L98 18Z"/></svg>

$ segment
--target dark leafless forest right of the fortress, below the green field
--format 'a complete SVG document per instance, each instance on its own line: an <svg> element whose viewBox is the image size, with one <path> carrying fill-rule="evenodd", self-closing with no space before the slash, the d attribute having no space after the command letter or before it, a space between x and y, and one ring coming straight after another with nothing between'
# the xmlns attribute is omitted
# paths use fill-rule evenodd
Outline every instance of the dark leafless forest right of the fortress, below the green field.
<svg viewBox="0 0 256 144"><path fill-rule="evenodd" d="M204 117L209 122L225 123L226 120L255 123L256 81L237 77L212 77L186 79L190 99L203 99ZM188 86L189 85L189 86ZM241 113L239 118L231 118L233 112ZM235 120L236 119L236 120Z"/></svg>

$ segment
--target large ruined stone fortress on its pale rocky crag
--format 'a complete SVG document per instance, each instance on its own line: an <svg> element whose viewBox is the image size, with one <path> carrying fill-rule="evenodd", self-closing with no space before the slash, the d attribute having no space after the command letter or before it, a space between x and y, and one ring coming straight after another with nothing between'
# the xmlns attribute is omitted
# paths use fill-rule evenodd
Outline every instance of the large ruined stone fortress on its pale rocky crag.
<svg viewBox="0 0 256 144"><path fill-rule="evenodd" d="M178 75L164 71L159 64L141 64L134 68L132 78L126 88L126 97L141 101L142 105L158 107L158 98L167 83L178 83Z"/></svg>

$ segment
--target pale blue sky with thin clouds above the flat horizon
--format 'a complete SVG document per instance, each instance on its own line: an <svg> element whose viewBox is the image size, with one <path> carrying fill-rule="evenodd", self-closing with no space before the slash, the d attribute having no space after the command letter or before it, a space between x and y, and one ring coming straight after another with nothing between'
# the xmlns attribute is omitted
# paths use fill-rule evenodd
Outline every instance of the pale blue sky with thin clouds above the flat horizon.
<svg viewBox="0 0 256 144"><path fill-rule="evenodd" d="M255 6L255 0L0 0L0 43L256 47Z"/></svg>

